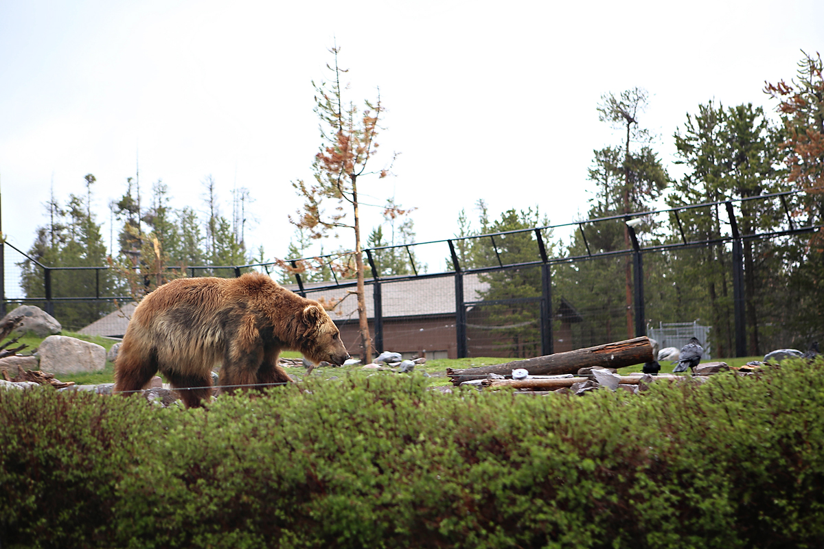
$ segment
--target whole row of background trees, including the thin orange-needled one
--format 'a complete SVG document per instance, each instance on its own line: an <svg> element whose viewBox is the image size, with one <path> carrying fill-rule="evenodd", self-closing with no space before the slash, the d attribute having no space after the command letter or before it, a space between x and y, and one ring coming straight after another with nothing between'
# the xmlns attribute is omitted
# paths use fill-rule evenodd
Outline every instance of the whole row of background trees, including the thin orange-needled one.
<svg viewBox="0 0 824 549"><path fill-rule="evenodd" d="M336 56L337 51L333 51ZM333 72L339 77L336 64ZM382 111L378 97L377 105L368 104L371 110L363 111L363 128L355 132L354 122L360 114L356 115L351 104L349 110L342 107L339 80L333 82L337 87L333 86L331 91L324 83L316 86L319 94L316 110L321 122L332 129L321 132L325 141L314 165L317 184L307 185L302 180L295 183L298 194L307 203L304 211L299 212L302 215L292 220L296 230L285 256L309 259L303 264L296 263L297 267L288 260L282 261L279 264L284 267L283 271L272 274L279 281L293 282L294 274L299 272L305 281L312 282L330 281L334 277L353 278L358 269L365 277L424 272L427 266L414 255L414 247L391 248L414 244L415 238L414 222L404 215L410 210L401 209L392 199L386 201L384 222L374 227L365 241L377 273L372 273L369 265L363 265L362 259L358 266L356 254L342 247L325 252L321 244L320 254L312 252L316 250L316 242L327 241L317 240L325 235L325 230L338 226L353 228L343 224L342 216L327 221L321 219L321 195L325 193L325 198L357 204L356 199L353 200L354 182L363 174L368 153L372 152L369 147L377 147L371 140L377 135L377 115ZM803 54L792 81L767 83L764 91L775 100L777 121L770 119L761 107L749 103L727 106L714 100L698 105L695 112L686 115L685 123L672 136L677 164L684 172L679 178L669 174L655 150L657 140L644 127L648 93L634 88L603 95L597 105L599 119L618 130L620 138L593 151L588 170L592 198L579 221L644 212L655 209L653 205L661 201L667 207L681 207L741 199L736 217L744 235L778 230L788 219L795 226L821 224L824 219L824 79L820 56ZM364 144L352 147L352 142ZM360 171L354 171L356 168ZM386 170L380 175L386 175ZM344 185L347 178L348 190ZM49 201L46 205L49 223L38 230L29 252L33 258L49 266L110 264L116 269L99 273L97 283L112 295L129 290L147 291L168 277L177 276L170 267L266 263L263 249L252 254L244 244L242 220L246 216L238 212L251 202L248 190L233 193L232 218L227 218L220 214L216 184L211 177L204 179L205 214L192 207L180 210L169 207L169 191L162 181L152 185L151 196L147 204L143 204L136 182L128 179L124 195L111 203L113 219L117 219L120 228L119 249L113 254L115 257L109 258L101 224L89 206L94 184L94 176L89 174L85 195L71 195L64 204L54 197ZM792 199L752 199L791 188L805 192ZM488 206L478 202L475 212L476 219L471 220L470 214L461 211L457 220L456 254L462 265L489 267L493 262L522 263L539 257L536 239L530 232L494 240L464 238L549 226L550 221L541 216L538 206L523 211L510 209L498 219L490 219ZM673 244L682 239L683 231L691 235L692 240L713 240L728 232L729 222L727 212L717 207L684 210L677 216L671 214L668 221L645 217L639 238L645 245ZM545 230L543 240L547 253L554 257L630 248L630 235L622 221L591 224L586 232L576 231L566 241ZM358 241L356 248L359 247ZM744 240L744 298L750 354L760 354L776 343L789 344L788 340L798 339L795 343L800 344L800 340L824 336L824 300L820 297L824 295L821 291L822 249L824 238L820 231L812 237ZM450 263L451 259L447 261ZM40 296L40 272L29 263L24 263L23 269L26 295ZM72 295L73 289L69 286L80 288L91 284L91 280L83 277L94 275L81 273L70 277L61 275L59 283L66 286L61 286L61 295ZM127 276L129 273L131 278ZM212 273L232 275L218 270ZM714 355L732 353L732 256L727 245L645 254L644 275L648 319L662 322L699 319L713 327ZM504 345L517 349L513 352L533 353L540 342L538 328L524 326L528 324L527 319L535 317L538 305L522 298L541 295L539 270L490 272L483 277L489 282L486 300L512 301L489 308L486 321L512 327L499 331L498 335ZM559 264L553 268L552 281L554 295L573 305L585 319L573 323L574 337L579 342L595 344L634 335L628 256ZM522 302L518 304L517 300ZM95 306L88 305L92 309ZM82 316L90 314L93 316L95 311L86 311Z"/></svg>

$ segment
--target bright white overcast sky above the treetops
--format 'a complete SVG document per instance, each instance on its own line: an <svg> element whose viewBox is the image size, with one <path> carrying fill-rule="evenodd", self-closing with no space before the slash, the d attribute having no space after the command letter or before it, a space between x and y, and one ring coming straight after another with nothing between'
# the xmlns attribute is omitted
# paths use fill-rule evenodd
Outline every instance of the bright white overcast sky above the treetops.
<svg viewBox="0 0 824 549"><path fill-rule="evenodd" d="M204 210L212 174L250 189L260 220L246 239L283 257L291 181L311 178L320 145L311 80L327 77L337 40L349 97L387 107L380 169L361 192L417 207L417 240L449 238L461 208L498 216L538 205L552 223L587 210L593 149L620 143L598 122L606 92L650 93L641 124L671 174L672 133L700 103L772 105L764 81L788 80L824 50L820 0L694 2L0 2L2 230L28 249L61 202L96 175L109 242L110 200L139 156L148 197ZM368 215L368 229L377 223ZM349 240L330 242L327 250ZM439 258L435 258L436 261ZM430 265L430 270L436 270Z"/></svg>

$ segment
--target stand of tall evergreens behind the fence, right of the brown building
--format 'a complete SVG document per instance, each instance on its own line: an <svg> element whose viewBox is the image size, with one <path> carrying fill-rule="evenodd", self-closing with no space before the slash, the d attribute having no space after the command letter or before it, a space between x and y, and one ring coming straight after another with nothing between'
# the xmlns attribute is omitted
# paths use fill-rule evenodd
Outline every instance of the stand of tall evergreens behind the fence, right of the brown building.
<svg viewBox="0 0 824 549"><path fill-rule="evenodd" d="M765 86L777 102L780 119L773 122L761 107L749 103L725 106L711 100L686 115L673 135L681 178L673 178L653 149L654 140L640 115L648 106L646 91L634 88L619 95L606 94L598 105L600 119L621 130L620 142L593 151L589 180L594 186L588 211L578 221L667 207L740 200L735 213L742 235L769 233L782 228L817 226L824 222L824 79L820 56L804 54L797 77L791 82ZM803 189L792 198L760 198L770 193ZM757 199L756 199L757 198ZM537 207L503 212L490 221L484 202L476 205L473 225L466 212L458 217L456 238L549 225L539 219ZM555 257L578 257L630 249L623 219L588 224L569 242L545 237ZM639 239L642 245L677 244L714 240L729 234L728 212L704 207L669 214L668 222L645 216ZM493 239L459 240L456 253L469 268L534 261L536 239L530 232ZM528 250L527 257L522 257ZM809 234L773 239L743 240L743 272L747 352L761 355L771 348L796 345L824 337L824 237ZM580 313L572 323L578 347L634 336L632 272L629 254L561 263L552 272L555 304L563 298ZM664 323L691 322L711 325L714 356L732 356L733 271L728 245L705 245L644 254L645 313ZM510 269L481 275L489 282L486 300L510 300L489 307L487 321L520 326L518 319L536 318L536 304L525 296L541 295L538 268ZM521 299L519 302L518 300ZM497 317L497 318L496 318ZM557 318L557 317L556 317ZM557 319L559 324L564 319ZM537 325L507 334L497 331L499 345L518 356L534 356L540 348ZM520 349L524 341L530 347ZM806 347L804 347L806 348ZM530 354L531 353L531 354Z"/></svg>

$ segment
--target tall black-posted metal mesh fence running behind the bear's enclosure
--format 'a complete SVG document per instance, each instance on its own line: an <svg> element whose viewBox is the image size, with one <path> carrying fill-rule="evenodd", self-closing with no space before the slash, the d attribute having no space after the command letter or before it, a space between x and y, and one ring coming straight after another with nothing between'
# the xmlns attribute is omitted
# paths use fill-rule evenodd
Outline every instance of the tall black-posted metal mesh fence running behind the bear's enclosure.
<svg viewBox="0 0 824 549"><path fill-rule="evenodd" d="M793 316L798 300L822 298L782 287L782 277L799 262L821 261L808 243L822 226L791 215L802 198L798 192L775 193L366 249L373 346L405 356L526 357L620 341L658 326L649 333L658 335L662 347L680 347L680 336L667 330L686 323L712 327L699 339L715 356L803 347L824 331L824 321L807 319L807 328L798 328L802 324ZM775 220L766 229L753 228L747 219L747 202L753 200L775 204ZM563 250L559 238L568 242ZM123 335L133 299L113 272L49 267L11 244L2 249L3 309L39 305L73 331ZM424 272L412 261L408 272L399 274L386 260L396 252L445 258L446 264L438 272ZM799 260L793 254L807 255ZM752 258L761 264L745 265ZM339 259L295 258L291 263L328 267ZM29 279L33 272L41 275L35 291L31 280L23 291L24 266ZM274 263L190 267L186 273L237 277L250 270L280 273ZM85 277L82 284L79 277ZM330 314L350 352L357 354L358 313L351 294L356 283L334 269L327 278L310 281L298 269L285 286L335 305Z"/></svg>

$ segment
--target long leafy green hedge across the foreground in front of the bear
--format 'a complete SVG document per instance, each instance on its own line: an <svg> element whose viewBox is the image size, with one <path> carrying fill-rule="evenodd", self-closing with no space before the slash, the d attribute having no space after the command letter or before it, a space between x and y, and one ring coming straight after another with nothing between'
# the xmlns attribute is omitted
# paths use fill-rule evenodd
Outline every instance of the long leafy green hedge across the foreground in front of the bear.
<svg viewBox="0 0 824 549"><path fill-rule="evenodd" d="M2 547L824 547L824 361L643 395L0 392Z"/></svg>

